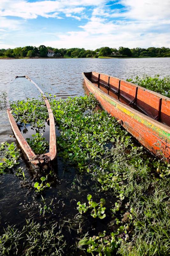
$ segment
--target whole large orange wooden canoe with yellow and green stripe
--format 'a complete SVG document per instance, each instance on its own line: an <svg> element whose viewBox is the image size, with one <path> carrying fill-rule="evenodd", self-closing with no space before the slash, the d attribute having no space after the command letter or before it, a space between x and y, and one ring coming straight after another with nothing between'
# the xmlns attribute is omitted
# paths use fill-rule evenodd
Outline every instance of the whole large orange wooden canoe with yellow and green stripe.
<svg viewBox="0 0 170 256"><path fill-rule="evenodd" d="M145 148L170 162L170 98L117 77L83 73L85 84L104 108Z"/></svg>

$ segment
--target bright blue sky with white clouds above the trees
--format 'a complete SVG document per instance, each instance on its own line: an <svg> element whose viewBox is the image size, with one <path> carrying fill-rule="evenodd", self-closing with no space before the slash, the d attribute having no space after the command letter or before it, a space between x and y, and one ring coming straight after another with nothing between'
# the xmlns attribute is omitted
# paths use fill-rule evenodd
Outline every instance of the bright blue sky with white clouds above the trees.
<svg viewBox="0 0 170 256"><path fill-rule="evenodd" d="M170 47L169 0L0 0L0 49Z"/></svg>

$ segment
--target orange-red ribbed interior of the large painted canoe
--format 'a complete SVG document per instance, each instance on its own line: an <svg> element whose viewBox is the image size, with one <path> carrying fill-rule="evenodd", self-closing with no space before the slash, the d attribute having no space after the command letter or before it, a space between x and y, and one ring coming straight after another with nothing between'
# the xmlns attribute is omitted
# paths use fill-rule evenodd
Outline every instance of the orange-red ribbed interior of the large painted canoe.
<svg viewBox="0 0 170 256"><path fill-rule="evenodd" d="M96 87L120 102L170 126L170 99L117 77L85 72Z"/></svg>

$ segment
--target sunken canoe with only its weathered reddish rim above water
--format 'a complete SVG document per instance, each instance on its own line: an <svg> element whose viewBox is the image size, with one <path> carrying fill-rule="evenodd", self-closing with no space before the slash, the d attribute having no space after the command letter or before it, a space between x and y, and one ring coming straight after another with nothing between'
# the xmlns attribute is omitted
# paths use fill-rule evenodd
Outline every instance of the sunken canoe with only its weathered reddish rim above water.
<svg viewBox="0 0 170 256"><path fill-rule="evenodd" d="M16 76L16 78L18 78L18 77L19 76ZM44 96L43 98L44 98L45 104L46 104L47 109L48 109L49 124L50 124L49 152L45 153L45 154L42 154L42 155L35 155L33 150L31 149L31 147L28 145L27 141L24 139L21 132L19 131L18 126L15 122L15 119L14 119L13 115L11 114L11 109L10 108L7 108L8 118L9 118L9 121L10 121L10 124L11 124L12 131L13 131L16 139L18 140L18 143L19 143L20 147L22 148L22 150L26 154L28 160L32 164L35 164L35 165L47 163L47 162L53 161L56 158L56 155L57 155L56 136L55 136L55 121L54 121L53 112L52 112L52 109L50 107L49 101L46 98L46 96L44 95L41 88L37 84L35 84L33 82L33 80L31 80L28 76L22 76L22 77L25 77L32 84L34 84L38 88L38 90L41 92L41 94Z"/></svg>

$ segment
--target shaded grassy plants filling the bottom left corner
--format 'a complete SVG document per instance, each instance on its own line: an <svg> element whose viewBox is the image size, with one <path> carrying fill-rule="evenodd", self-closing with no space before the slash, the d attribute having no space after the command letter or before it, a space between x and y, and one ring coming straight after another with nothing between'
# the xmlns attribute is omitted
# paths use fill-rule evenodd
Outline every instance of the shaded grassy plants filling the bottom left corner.
<svg viewBox="0 0 170 256"><path fill-rule="evenodd" d="M56 223L37 223L26 220L19 230L8 226L0 236L0 255L56 255L64 254L66 246L62 231Z"/></svg>

